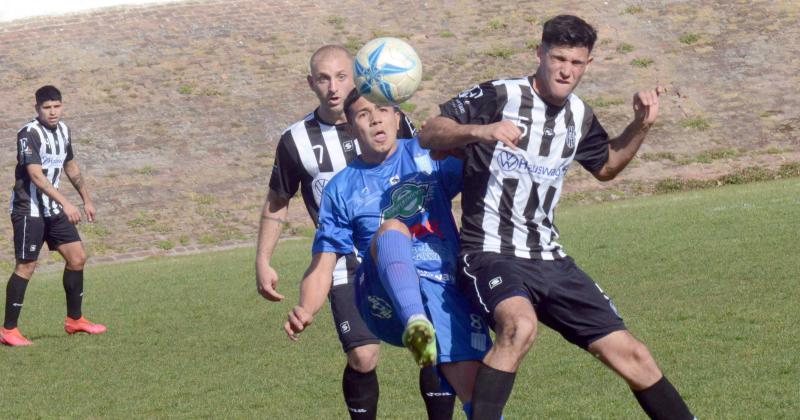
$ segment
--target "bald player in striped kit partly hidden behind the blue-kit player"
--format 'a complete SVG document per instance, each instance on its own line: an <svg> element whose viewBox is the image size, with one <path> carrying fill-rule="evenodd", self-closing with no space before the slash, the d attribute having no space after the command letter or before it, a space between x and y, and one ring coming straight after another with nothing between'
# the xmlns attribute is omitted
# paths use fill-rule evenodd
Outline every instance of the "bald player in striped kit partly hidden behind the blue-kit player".
<svg viewBox="0 0 800 420"><path fill-rule="evenodd" d="M299 188L316 225L325 184L361 153L358 141L347 131L343 110L345 98L354 86L350 53L338 45L323 46L311 56L309 72L308 86L317 96L319 107L281 136L261 213L256 285L270 301L283 299L276 290L278 274L270 266L270 259L286 222L290 199ZM402 116L399 136L414 135L414 126ZM329 300L336 331L347 354L342 374L345 403L353 419L373 419L379 396L375 369L380 341L364 325L355 306L353 277L357 265L355 254L337 260ZM420 370L420 391L430 418L452 417L455 396L439 387L438 377L429 367Z"/></svg>

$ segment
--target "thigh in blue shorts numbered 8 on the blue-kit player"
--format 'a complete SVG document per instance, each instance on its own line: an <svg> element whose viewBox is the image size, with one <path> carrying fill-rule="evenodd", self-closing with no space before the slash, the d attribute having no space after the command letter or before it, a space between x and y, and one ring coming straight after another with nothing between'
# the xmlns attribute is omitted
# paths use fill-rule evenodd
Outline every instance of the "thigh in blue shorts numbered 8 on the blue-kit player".
<svg viewBox="0 0 800 420"><path fill-rule="evenodd" d="M420 290L436 330L438 362L481 360L491 347L491 338L480 312L455 284L423 277Z"/></svg>

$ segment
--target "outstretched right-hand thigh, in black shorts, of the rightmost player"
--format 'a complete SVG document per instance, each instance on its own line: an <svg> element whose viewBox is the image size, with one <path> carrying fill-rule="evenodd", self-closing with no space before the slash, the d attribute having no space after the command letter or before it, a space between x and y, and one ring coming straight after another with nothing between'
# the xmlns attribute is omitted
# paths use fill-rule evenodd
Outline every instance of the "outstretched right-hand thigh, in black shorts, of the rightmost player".
<svg viewBox="0 0 800 420"><path fill-rule="evenodd" d="M542 323L583 349L625 329L614 303L572 258L538 264L538 276L549 284L546 297L536 307Z"/></svg>

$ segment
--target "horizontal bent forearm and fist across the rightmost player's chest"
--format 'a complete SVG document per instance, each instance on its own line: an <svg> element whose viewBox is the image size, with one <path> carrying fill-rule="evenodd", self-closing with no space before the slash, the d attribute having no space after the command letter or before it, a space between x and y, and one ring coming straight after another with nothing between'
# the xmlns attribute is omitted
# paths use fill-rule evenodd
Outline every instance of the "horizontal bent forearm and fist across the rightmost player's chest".
<svg viewBox="0 0 800 420"><path fill-rule="evenodd" d="M436 116L426 121L423 127L419 143L432 150L456 149L475 142L501 142L516 149L522 136L520 129L507 120L486 125L459 124L450 118Z"/></svg>

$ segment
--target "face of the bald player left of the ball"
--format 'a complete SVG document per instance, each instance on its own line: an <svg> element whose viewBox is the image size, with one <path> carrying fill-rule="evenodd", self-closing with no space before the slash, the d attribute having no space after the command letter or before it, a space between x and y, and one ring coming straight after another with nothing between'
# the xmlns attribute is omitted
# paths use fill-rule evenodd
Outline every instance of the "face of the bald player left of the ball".
<svg viewBox="0 0 800 420"><path fill-rule="evenodd" d="M319 105L332 113L342 113L344 100L353 90L353 62L343 53L320 57L311 68L308 86L317 95Z"/></svg>

